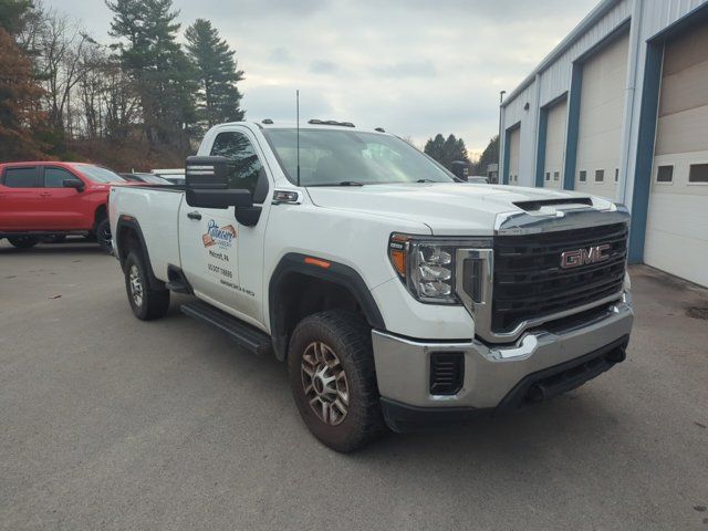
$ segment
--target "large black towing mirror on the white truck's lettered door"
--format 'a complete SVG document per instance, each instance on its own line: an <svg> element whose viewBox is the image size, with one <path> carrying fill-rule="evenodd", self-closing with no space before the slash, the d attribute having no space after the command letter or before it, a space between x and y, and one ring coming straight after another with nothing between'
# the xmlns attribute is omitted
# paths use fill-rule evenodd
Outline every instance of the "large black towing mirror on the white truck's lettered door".
<svg viewBox="0 0 708 531"><path fill-rule="evenodd" d="M252 207L251 192L229 189L231 165L226 157L188 157L185 165L187 205L204 208Z"/></svg>

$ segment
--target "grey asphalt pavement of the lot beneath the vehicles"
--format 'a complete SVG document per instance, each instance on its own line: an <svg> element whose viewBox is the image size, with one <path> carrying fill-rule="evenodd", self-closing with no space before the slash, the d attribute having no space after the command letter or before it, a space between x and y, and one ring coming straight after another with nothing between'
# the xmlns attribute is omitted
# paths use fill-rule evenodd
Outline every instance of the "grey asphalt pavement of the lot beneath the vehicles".
<svg viewBox="0 0 708 531"><path fill-rule="evenodd" d="M282 364L185 298L140 322L95 246L2 241L0 529L708 531L708 292L632 275L625 363L344 456L310 436Z"/></svg>

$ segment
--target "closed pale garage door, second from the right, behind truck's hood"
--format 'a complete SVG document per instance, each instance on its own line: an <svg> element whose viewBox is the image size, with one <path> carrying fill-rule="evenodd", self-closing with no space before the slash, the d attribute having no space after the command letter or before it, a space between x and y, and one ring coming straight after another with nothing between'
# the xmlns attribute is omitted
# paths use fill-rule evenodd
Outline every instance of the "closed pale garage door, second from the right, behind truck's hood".
<svg viewBox="0 0 708 531"><path fill-rule="evenodd" d="M617 197L629 35L583 64L575 189Z"/></svg>

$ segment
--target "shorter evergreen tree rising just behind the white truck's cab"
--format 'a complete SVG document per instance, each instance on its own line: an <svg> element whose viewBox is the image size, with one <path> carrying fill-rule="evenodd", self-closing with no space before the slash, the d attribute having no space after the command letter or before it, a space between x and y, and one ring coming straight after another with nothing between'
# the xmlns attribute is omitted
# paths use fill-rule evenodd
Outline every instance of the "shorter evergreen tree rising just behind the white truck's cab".
<svg viewBox="0 0 708 531"><path fill-rule="evenodd" d="M205 19L197 19L185 32L185 38L200 84L197 96L199 121L211 127L243 119L242 96L236 86L243 79L243 72L237 70L236 52Z"/></svg>

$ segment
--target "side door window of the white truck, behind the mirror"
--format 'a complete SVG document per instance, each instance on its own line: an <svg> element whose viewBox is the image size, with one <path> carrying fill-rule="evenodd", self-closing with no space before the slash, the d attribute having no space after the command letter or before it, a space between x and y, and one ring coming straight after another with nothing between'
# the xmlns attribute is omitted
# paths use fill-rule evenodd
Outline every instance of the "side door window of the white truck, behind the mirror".
<svg viewBox="0 0 708 531"><path fill-rule="evenodd" d="M211 147L212 156L226 157L232 163L229 188L246 189L256 196L263 165L246 135L236 132L219 133ZM256 201L256 197L253 198Z"/></svg>

